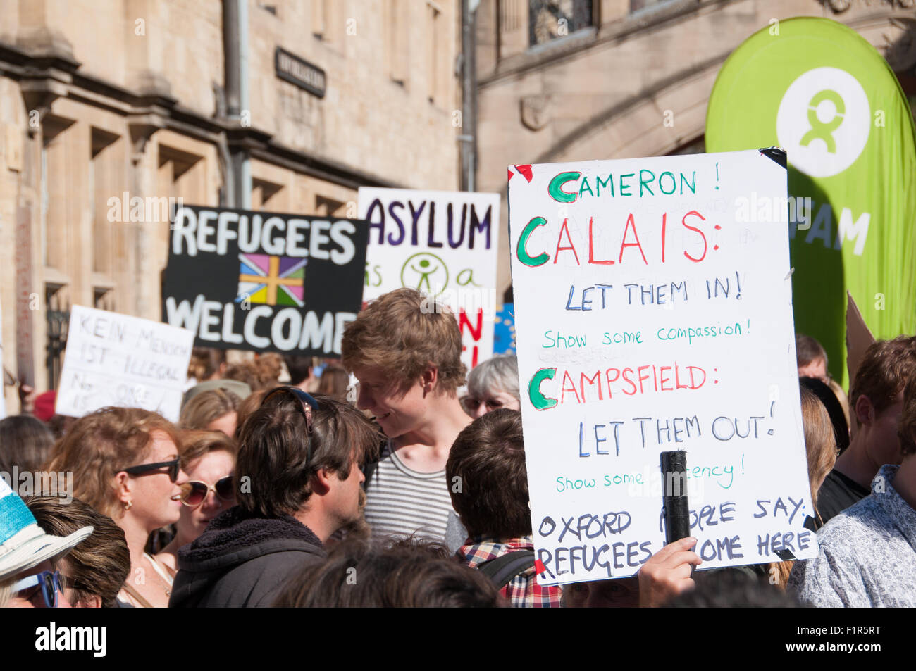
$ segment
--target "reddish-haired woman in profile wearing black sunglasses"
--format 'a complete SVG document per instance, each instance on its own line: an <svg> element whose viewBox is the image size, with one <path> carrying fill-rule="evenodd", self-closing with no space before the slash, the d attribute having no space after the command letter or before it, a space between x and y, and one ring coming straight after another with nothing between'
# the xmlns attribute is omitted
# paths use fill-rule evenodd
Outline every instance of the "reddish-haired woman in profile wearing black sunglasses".
<svg viewBox="0 0 916 671"><path fill-rule="evenodd" d="M54 448L46 470L73 473L74 498L107 514L124 530L130 573L121 605L166 607L171 578L144 552L149 534L180 517L178 430L156 413L106 407L81 417Z"/></svg>

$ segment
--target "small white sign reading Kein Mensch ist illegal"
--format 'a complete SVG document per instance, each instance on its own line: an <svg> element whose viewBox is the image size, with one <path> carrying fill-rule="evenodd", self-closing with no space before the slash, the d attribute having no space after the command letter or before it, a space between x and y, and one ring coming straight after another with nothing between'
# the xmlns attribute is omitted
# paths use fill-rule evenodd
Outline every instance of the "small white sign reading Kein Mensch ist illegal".
<svg viewBox="0 0 916 671"><path fill-rule="evenodd" d="M193 341L190 330L74 305L55 412L142 407L177 422Z"/></svg>

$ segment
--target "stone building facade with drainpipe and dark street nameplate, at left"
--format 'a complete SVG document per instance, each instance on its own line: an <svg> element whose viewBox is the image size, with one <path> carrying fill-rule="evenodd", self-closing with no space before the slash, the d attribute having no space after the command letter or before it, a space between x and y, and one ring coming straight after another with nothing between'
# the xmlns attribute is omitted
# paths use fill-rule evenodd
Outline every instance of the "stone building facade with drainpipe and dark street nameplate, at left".
<svg viewBox="0 0 916 671"><path fill-rule="evenodd" d="M359 186L459 187L454 0L4 0L3 9L11 412L11 383L55 384L71 305L159 319L178 199L354 216Z"/></svg>

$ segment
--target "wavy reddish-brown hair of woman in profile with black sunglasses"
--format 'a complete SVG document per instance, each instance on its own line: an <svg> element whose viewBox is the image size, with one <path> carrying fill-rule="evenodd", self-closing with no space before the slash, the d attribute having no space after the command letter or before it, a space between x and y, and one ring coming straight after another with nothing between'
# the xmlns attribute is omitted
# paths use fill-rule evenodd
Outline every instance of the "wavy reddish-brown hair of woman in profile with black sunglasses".
<svg viewBox="0 0 916 671"><path fill-rule="evenodd" d="M156 431L180 449L179 431L165 417L136 407L104 407L73 423L46 470L71 471L72 495L114 517L120 507L114 475L144 462Z"/></svg>

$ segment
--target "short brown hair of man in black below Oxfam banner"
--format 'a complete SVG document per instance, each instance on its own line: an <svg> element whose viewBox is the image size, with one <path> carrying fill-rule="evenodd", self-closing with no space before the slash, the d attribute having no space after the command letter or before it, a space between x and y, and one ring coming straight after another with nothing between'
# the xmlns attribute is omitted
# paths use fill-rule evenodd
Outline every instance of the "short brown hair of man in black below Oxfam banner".
<svg viewBox="0 0 916 671"><path fill-rule="evenodd" d="M916 338L898 336L892 341L869 345L849 389L849 409L856 416L856 426L861 424L856 412L860 396L867 396L877 417L897 403L903 385L913 377L916 377Z"/></svg>

